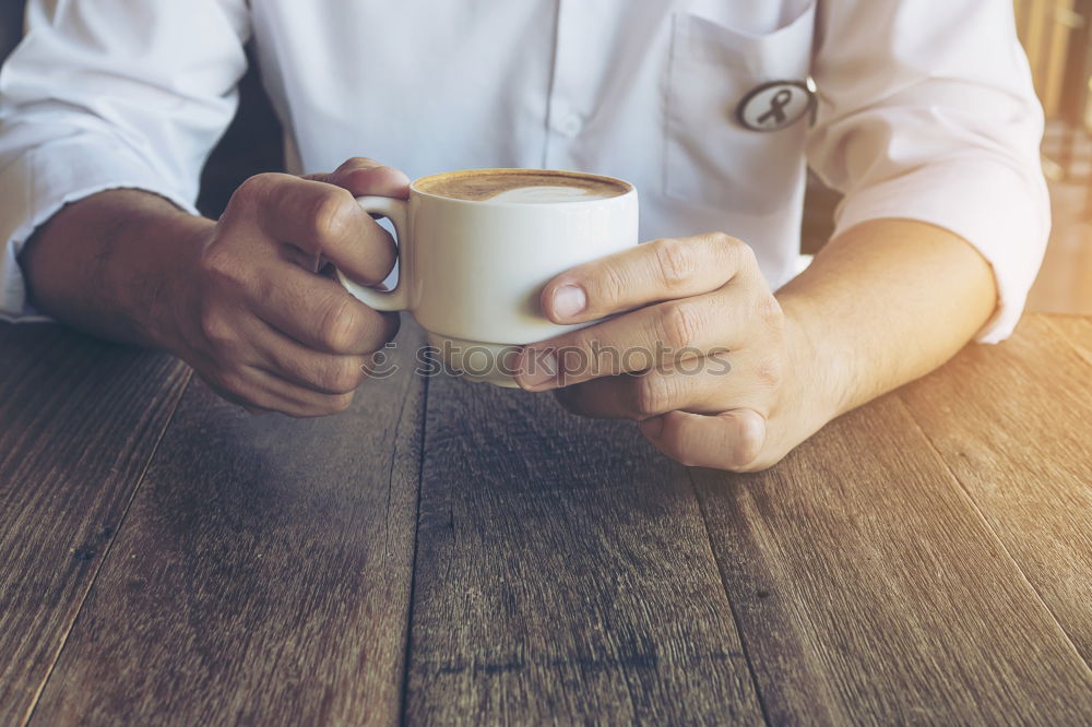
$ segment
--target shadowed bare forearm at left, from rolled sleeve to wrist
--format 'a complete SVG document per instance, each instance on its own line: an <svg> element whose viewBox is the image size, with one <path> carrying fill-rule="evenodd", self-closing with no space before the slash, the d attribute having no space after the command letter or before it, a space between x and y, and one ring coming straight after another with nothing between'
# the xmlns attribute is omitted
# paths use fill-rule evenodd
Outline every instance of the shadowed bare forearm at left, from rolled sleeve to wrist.
<svg viewBox="0 0 1092 727"><path fill-rule="evenodd" d="M163 346L178 272L213 224L147 192L88 196L58 212L24 248L31 299L94 335Z"/></svg>

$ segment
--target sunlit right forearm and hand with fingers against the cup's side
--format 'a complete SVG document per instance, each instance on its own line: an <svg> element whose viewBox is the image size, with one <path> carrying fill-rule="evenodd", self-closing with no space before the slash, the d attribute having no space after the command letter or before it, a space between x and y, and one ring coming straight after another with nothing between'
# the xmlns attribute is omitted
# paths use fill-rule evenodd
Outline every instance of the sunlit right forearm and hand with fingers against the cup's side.
<svg viewBox="0 0 1092 727"><path fill-rule="evenodd" d="M578 414L637 419L684 464L762 469L948 360L996 300L973 247L911 219L842 233L776 296L739 240L656 240L546 285L556 323L620 314L525 347L518 381Z"/></svg>

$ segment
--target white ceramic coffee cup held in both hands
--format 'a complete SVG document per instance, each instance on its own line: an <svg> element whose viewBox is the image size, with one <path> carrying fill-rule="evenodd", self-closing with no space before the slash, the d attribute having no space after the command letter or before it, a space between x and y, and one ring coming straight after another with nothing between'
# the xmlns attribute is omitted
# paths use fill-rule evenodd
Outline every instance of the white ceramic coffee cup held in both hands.
<svg viewBox="0 0 1092 727"><path fill-rule="evenodd" d="M393 223L399 282L380 290L339 271L342 285L376 310L410 311L450 368L501 386L515 385L521 345L581 327L543 314L546 283L638 242L637 190L598 175L454 171L414 181L408 202L358 202Z"/></svg>

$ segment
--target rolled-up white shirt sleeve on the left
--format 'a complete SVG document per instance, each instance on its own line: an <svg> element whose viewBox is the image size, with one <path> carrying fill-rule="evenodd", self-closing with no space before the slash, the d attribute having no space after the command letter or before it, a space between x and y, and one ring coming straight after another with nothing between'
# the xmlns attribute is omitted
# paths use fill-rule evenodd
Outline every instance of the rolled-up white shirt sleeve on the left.
<svg viewBox="0 0 1092 727"><path fill-rule="evenodd" d="M133 188L195 214L248 34L245 0L29 0L0 69L0 318L49 320L17 255L63 205Z"/></svg>

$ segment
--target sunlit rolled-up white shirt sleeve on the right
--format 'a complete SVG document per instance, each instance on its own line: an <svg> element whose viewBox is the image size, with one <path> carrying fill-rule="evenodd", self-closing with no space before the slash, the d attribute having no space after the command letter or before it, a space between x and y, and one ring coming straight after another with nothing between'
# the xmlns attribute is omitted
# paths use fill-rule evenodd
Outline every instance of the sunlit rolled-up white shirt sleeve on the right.
<svg viewBox="0 0 1092 727"><path fill-rule="evenodd" d="M976 339L1004 339L1051 227L1043 111L1012 3L829 0L819 9L808 159L845 194L834 235L885 217L959 235L997 281L996 312Z"/></svg>

